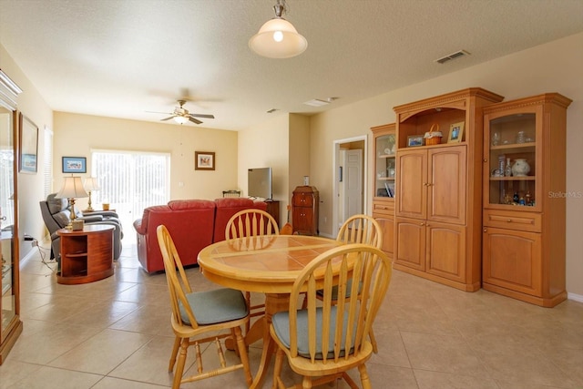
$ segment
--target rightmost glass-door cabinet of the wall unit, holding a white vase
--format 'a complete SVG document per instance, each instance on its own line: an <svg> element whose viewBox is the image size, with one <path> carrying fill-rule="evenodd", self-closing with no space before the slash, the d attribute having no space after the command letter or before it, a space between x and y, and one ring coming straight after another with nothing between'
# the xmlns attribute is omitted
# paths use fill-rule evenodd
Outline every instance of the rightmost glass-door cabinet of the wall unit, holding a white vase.
<svg viewBox="0 0 583 389"><path fill-rule="evenodd" d="M484 109L483 287L545 307L567 298L570 103L549 93Z"/></svg>

